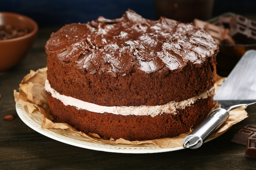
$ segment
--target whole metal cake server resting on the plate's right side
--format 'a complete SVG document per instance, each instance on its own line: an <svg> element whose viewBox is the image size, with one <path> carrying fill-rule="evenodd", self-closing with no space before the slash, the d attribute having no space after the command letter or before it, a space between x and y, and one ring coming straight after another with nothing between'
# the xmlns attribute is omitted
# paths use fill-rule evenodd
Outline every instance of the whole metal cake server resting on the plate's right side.
<svg viewBox="0 0 256 170"><path fill-rule="evenodd" d="M201 124L184 138L184 148L199 148L228 118L229 111L241 106L256 104L256 50L247 51L225 82L220 86L214 101L222 108L210 113Z"/></svg>

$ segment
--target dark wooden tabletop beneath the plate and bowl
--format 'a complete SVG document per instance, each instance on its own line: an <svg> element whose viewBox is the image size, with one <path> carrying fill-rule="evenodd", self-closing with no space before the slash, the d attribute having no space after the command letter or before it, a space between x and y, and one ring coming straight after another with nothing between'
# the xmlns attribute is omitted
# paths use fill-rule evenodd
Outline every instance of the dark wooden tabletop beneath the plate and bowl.
<svg viewBox="0 0 256 170"><path fill-rule="evenodd" d="M121 154L89 150L63 144L29 128L15 110L13 90L18 90L29 70L46 66L45 42L58 28L39 29L36 42L18 66L0 75L0 169L1 170L252 170L256 158L245 157L246 146L231 142L235 132L256 124L256 105L249 117L225 134L198 149L154 154ZM13 49L15 50L15 49ZM13 120L5 120L13 115Z"/></svg>

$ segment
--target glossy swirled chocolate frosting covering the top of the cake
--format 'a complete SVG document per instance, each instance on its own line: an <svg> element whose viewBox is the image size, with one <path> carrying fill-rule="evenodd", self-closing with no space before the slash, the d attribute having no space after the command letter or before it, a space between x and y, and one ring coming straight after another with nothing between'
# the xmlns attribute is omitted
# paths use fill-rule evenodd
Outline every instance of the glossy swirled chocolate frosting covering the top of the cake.
<svg viewBox="0 0 256 170"><path fill-rule="evenodd" d="M132 10L118 19L99 17L86 24L68 24L45 46L64 66L91 75L180 72L201 66L218 46L204 30L190 23L147 20Z"/></svg>

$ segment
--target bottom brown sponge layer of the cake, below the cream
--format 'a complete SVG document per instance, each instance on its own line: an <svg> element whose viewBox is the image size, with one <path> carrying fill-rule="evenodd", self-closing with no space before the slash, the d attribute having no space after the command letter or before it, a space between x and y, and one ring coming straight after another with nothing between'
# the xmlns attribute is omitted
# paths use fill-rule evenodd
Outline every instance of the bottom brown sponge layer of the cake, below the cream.
<svg viewBox="0 0 256 170"><path fill-rule="evenodd" d="M54 122L70 124L84 133L97 133L103 139L112 137L129 141L174 137L188 132L192 126L198 125L213 107L213 97L208 97L199 99L185 109L177 109L175 115L123 116L77 110L74 106L65 106L49 93L47 93L47 101Z"/></svg>

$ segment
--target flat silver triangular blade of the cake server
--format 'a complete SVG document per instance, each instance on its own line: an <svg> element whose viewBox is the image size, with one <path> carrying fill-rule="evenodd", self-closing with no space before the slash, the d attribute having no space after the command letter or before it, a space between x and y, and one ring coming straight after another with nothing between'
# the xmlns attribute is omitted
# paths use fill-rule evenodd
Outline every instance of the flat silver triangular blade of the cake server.
<svg viewBox="0 0 256 170"><path fill-rule="evenodd" d="M243 55L216 92L214 100L226 107L229 103L256 100L256 50Z"/></svg>

